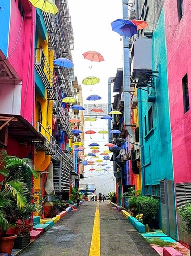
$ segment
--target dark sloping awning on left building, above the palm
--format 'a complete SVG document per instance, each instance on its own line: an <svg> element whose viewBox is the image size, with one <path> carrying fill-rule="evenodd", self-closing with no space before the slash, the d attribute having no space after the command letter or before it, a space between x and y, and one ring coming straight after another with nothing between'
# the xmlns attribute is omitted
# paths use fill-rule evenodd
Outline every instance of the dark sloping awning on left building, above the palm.
<svg viewBox="0 0 191 256"><path fill-rule="evenodd" d="M6 125L8 126L8 137L17 141L46 141L46 138L21 115L0 114L0 133Z"/></svg>

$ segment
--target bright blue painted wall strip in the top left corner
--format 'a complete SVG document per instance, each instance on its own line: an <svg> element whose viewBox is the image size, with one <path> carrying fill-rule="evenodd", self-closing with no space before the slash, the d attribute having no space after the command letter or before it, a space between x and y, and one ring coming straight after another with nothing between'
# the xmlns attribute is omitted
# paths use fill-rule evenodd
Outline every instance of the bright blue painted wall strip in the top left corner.
<svg viewBox="0 0 191 256"><path fill-rule="evenodd" d="M0 49L7 57L9 42L9 26L10 26L10 0L0 0Z"/></svg>

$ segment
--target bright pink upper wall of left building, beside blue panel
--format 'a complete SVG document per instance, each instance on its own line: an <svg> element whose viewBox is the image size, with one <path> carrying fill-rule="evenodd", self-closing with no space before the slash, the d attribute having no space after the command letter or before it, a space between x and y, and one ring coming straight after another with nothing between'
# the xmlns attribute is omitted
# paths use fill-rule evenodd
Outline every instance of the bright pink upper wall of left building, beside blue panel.
<svg viewBox="0 0 191 256"><path fill-rule="evenodd" d="M18 0L11 1L8 60L22 80L20 114L33 125L35 8L26 0L21 0L21 4L24 19L18 9Z"/></svg>

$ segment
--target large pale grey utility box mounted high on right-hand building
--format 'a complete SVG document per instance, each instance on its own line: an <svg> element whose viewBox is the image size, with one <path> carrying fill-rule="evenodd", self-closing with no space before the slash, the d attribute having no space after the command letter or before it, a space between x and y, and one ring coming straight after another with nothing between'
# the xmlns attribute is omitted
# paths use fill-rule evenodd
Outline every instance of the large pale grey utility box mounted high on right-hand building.
<svg viewBox="0 0 191 256"><path fill-rule="evenodd" d="M131 48L131 80L152 71L152 39L136 38Z"/></svg>

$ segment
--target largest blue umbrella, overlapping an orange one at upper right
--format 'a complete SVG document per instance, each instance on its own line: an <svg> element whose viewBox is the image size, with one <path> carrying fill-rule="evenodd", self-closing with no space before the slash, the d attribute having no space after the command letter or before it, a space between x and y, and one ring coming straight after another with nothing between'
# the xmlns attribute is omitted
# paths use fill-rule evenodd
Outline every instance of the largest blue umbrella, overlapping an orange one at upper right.
<svg viewBox="0 0 191 256"><path fill-rule="evenodd" d="M130 20L117 19L111 23L112 30L120 36L132 37L137 34L137 26Z"/></svg>

